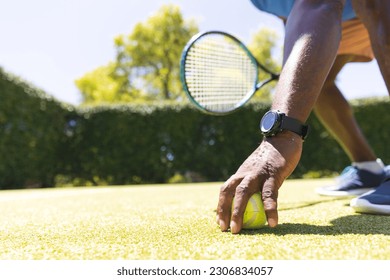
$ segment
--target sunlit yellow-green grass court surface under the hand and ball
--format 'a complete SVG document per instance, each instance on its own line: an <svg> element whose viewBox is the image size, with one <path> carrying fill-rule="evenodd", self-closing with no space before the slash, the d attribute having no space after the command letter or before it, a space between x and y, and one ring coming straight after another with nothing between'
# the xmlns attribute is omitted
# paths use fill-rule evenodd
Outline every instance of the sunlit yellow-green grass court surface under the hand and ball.
<svg viewBox="0 0 390 280"><path fill-rule="evenodd" d="M219 184L0 192L0 259L390 259L390 217L288 180L277 228L220 232Z"/></svg>

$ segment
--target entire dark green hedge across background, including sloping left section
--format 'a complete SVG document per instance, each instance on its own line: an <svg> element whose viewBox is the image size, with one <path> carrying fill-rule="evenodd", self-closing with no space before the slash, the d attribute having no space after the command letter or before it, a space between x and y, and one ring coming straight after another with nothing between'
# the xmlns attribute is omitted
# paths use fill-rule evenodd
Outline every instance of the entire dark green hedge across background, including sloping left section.
<svg viewBox="0 0 390 280"><path fill-rule="evenodd" d="M0 98L0 189L224 181L258 146L259 120L269 108L250 103L224 117L189 104L73 108L1 69ZM389 105L387 98L353 105L385 163L390 163ZM314 116L309 124L292 177L339 172L349 164L347 156Z"/></svg>

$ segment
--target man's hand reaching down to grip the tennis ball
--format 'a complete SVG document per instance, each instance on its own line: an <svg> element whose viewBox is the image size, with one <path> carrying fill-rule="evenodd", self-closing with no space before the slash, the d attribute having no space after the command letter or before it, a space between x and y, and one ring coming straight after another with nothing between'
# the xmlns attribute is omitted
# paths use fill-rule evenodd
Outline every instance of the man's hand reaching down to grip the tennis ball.
<svg viewBox="0 0 390 280"><path fill-rule="evenodd" d="M227 231L230 225L232 233L240 232L248 200L259 191L262 192L268 225L275 227L278 224L278 189L297 166L302 142L301 137L289 131L264 139L223 184L217 208L217 223L222 231Z"/></svg>

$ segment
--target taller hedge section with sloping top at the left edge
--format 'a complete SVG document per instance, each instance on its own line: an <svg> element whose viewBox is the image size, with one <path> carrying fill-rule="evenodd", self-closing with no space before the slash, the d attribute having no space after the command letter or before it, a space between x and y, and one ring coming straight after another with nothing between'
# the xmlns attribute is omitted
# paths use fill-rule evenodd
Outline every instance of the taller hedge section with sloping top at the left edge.
<svg viewBox="0 0 390 280"><path fill-rule="evenodd" d="M69 111L0 68L0 189L54 185Z"/></svg>

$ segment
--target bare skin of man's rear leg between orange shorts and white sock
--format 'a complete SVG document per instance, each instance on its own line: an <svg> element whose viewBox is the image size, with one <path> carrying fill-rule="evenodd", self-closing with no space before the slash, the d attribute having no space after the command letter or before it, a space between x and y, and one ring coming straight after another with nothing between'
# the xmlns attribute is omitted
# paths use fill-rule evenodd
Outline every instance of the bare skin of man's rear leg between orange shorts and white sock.
<svg viewBox="0 0 390 280"><path fill-rule="evenodd" d="M343 147L351 161L375 161L376 155L356 123L351 107L335 83L340 70L352 59L352 55L337 56L317 99L314 111L322 124Z"/></svg>

